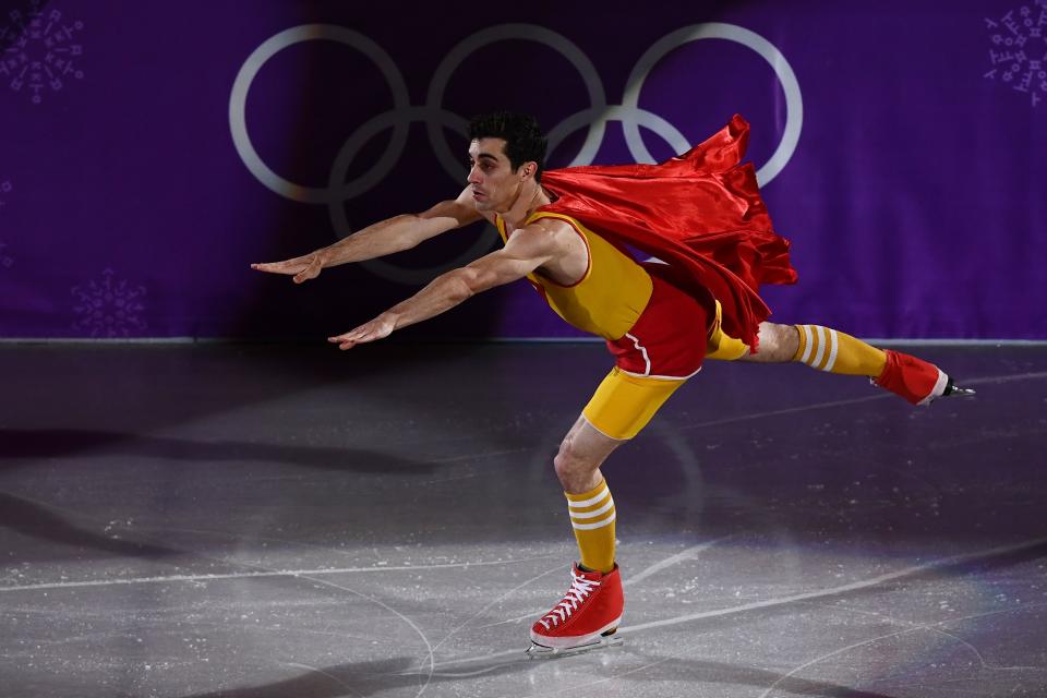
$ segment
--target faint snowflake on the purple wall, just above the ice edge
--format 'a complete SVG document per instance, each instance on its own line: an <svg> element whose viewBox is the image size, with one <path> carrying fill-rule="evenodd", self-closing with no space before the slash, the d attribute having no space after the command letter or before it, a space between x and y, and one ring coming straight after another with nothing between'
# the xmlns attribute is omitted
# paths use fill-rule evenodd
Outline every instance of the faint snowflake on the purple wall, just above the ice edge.
<svg viewBox="0 0 1047 698"><path fill-rule="evenodd" d="M145 287L127 279L113 278L112 269L101 273L101 279L91 279L74 286L70 292L76 299L73 313L79 320L73 329L86 332L92 337L130 337L146 328L142 313L145 311Z"/></svg>

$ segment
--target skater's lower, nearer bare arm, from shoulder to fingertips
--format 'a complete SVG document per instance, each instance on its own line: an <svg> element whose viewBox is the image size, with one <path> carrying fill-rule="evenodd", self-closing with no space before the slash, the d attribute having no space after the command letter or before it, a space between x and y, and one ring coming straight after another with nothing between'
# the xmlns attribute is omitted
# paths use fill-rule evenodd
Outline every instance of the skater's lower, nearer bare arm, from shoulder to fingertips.
<svg viewBox="0 0 1047 698"><path fill-rule="evenodd" d="M502 250L497 250L457 269L442 274L429 286L394 305L371 322L327 341L339 349L382 339L394 329L407 327L450 310L481 291L521 279L558 252L556 236L535 225L517 230Z"/></svg>

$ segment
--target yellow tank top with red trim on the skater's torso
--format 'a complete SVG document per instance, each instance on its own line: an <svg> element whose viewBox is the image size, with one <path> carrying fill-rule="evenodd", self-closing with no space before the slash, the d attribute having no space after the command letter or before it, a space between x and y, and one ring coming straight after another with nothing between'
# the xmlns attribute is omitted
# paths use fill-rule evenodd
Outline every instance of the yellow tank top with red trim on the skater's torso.
<svg viewBox="0 0 1047 698"><path fill-rule="evenodd" d="M651 277L635 260L570 216L539 210L524 225L540 218L558 218L574 228L589 251L589 267L571 286L562 286L538 274L528 274L528 280L569 324L604 339L621 339L647 308L653 289ZM505 242L508 238L502 216L496 222Z"/></svg>

